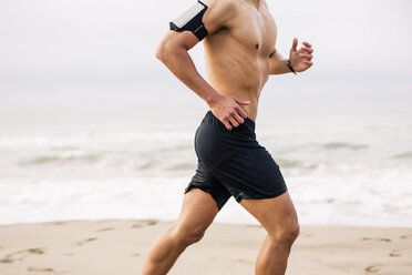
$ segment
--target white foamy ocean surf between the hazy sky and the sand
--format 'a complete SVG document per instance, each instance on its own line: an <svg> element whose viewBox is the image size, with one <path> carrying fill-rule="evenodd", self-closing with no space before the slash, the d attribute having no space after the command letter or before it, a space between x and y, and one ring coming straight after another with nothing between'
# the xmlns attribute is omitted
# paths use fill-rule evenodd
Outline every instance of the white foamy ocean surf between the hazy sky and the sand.
<svg viewBox="0 0 412 275"><path fill-rule="evenodd" d="M203 114L2 128L0 222L175 220ZM412 123L259 119L257 140L279 164L301 224L412 226ZM234 198L216 221L257 223Z"/></svg>

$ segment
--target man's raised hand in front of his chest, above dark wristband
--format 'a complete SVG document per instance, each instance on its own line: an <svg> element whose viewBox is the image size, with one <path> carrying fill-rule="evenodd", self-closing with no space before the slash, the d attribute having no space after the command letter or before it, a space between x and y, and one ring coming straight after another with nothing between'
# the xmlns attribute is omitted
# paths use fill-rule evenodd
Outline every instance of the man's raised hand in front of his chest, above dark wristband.
<svg viewBox="0 0 412 275"><path fill-rule="evenodd" d="M293 68L296 72L303 72L308 70L313 63L312 60L312 45L308 42L302 42L303 47L299 50L296 48L298 47L298 39L293 39L292 48L290 49L290 65Z"/></svg>

